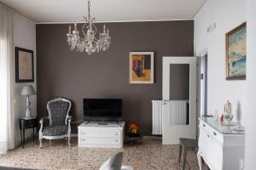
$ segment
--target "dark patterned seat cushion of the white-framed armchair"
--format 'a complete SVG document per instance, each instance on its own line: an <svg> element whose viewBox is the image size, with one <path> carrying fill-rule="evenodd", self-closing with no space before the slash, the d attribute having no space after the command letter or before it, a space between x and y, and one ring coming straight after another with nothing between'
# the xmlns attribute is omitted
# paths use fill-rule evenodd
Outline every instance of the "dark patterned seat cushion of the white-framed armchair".
<svg viewBox="0 0 256 170"><path fill-rule="evenodd" d="M66 125L55 125L43 128L45 136L61 136L67 134L68 127Z"/></svg>

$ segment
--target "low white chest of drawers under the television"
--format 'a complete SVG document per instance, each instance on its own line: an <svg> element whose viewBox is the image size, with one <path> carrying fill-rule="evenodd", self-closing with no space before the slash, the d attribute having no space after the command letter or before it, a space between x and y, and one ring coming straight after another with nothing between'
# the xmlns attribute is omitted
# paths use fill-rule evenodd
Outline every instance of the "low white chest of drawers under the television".
<svg viewBox="0 0 256 170"><path fill-rule="evenodd" d="M83 122L78 128L79 147L123 147L125 122Z"/></svg>

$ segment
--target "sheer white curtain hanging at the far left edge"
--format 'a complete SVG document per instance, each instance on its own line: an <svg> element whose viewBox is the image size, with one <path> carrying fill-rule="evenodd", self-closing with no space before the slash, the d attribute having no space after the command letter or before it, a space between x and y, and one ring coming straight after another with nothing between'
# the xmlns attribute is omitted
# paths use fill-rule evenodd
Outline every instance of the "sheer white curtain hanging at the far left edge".
<svg viewBox="0 0 256 170"><path fill-rule="evenodd" d="M0 154L15 148L14 10L0 3Z"/></svg>

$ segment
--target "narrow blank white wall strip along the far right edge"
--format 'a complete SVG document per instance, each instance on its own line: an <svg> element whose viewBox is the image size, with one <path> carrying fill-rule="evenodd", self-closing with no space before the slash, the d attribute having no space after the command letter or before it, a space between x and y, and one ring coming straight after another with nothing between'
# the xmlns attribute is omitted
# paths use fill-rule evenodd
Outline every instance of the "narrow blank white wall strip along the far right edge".
<svg viewBox="0 0 256 170"><path fill-rule="evenodd" d="M245 169L255 169L256 157L256 1L247 0L247 116Z"/></svg>

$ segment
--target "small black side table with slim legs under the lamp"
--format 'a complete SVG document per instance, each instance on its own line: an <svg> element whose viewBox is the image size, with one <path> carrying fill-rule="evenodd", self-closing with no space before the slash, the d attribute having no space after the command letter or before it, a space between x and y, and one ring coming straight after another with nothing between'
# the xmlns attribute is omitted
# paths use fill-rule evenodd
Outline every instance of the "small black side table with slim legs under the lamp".
<svg viewBox="0 0 256 170"><path fill-rule="evenodd" d="M20 119L20 137L21 137L21 144L25 144L25 129L33 128L33 143L35 143L35 127L36 127L36 134L38 132L38 117L32 117L31 119ZM22 133L23 131L23 133Z"/></svg>

